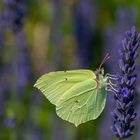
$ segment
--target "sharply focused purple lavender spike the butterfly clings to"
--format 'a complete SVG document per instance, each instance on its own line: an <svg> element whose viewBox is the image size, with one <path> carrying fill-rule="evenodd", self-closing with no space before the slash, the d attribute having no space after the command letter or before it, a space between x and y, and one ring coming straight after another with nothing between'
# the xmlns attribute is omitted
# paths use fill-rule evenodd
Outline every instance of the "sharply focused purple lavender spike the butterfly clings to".
<svg viewBox="0 0 140 140"><path fill-rule="evenodd" d="M130 137L133 134L136 112L134 110L135 96L135 59L137 57L137 48L139 46L140 34L136 32L135 27L126 32L126 37L122 41L122 50L120 51L120 74L118 75L118 93L114 95L116 108L112 112L114 123L112 131L120 140Z"/></svg>

